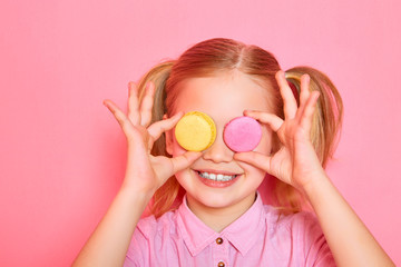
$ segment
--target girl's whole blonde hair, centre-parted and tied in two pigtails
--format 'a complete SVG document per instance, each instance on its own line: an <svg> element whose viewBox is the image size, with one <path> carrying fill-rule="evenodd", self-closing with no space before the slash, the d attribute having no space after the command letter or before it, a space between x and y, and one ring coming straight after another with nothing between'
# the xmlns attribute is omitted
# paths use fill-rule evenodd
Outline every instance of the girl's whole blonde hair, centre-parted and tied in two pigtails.
<svg viewBox="0 0 401 267"><path fill-rule="evenodd" d="M247 46L239 41L214 38L196 43L186 50L177 60L166 60L151 68L139 81L139 98L144 96L146 83L153 81L156 86L151 122L163 119L174 111L174 103L179 95L179 82L195 77L211 77L218 73L239 70L253 77L256 81L273 87L270 91L275 105L274 112L284 118L283 100L280 95L275 73L280 65L274 56L257 46ZM311 138L316 154L325 167L333 156L342 122L342 100L332 81L323 72L311 67L296 67L287 70L286 79L300 92L301 76L311 77L310 90L317 90L320 98L313 117ZM278 138L274 137L274 150L278 149ZM153 155L170 157L166 149L163 135L154 145ZM159 217L179 206L185 190L176 178L170 177L154 195L150 211ZM302 195L292 186L275 179L274 201L282 212L297 212L305 207Z"/></svg>

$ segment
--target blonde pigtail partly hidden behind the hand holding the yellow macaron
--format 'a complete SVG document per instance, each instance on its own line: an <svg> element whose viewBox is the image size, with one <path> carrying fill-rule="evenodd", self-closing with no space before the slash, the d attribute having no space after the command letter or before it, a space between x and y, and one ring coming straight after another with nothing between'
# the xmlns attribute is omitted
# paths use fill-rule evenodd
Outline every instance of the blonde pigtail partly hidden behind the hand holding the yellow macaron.
<svg viewBox="0 0 401 267"><path fill-rule="evenodd" d="M145 96L145 88L149 81L153 81L156 87L154 107L151 110L151 123L158 120L163 120L163 115L167 113L166 100L166 81L169 78L174 60L162 62L151 68L145 76L139 80L139 101ZM166 156L170 157L166 151L166 137L162 135L157 139L151 149L154 156ZM180 186L175 177L170 177L153 196L149 202L150 214L156 218L165 214L166 211L174 208L178 192L180 192Z"/></svg>

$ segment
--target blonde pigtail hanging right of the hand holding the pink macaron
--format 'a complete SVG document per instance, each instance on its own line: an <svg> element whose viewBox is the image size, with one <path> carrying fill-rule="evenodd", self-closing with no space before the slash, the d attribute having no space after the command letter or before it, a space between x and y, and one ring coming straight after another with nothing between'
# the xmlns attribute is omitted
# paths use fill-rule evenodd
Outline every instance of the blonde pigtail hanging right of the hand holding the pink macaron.
<svg viewBox="0 0 401 267"><path fill-rule="evenodd" d="M301 90L301 76L311 77L310 90L319 91L316 110L313 115L311 139L323 168L332 158L341 134L343 103L341 96L323 72L311 67L295 67L285 72L287 81Z"/></svg>

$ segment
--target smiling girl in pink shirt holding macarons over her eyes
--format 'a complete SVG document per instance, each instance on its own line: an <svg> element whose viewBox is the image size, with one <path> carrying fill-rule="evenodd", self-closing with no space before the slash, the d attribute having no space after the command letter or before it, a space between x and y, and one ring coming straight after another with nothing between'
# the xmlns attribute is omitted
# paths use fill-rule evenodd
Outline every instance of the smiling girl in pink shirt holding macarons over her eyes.
<svg viewBox="0 0 401 267"><path fill-rule="evenodd" d="M216 38L130 82L127 115L104 103L127 138L126 176L75 266L393 266L324 171L342 101L322 72L283 72L267 51ZM200 152L174 135L189 111L216 125ZM222 132L241 116L261 123L262 139L234 152Z"/></svg>

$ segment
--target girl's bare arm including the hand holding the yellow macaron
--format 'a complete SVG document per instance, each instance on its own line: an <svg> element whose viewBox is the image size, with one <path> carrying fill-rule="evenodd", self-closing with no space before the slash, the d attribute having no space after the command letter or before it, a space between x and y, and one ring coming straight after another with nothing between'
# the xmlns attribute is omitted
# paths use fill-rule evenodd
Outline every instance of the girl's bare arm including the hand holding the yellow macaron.
<svg viewBox="0 0 401 267"><path fill-rule="evenodd" d="M126 175L121 189L74 266L123 265L135 227L154 192L175 172L187 168L202 155L185 152L175 158L150 155L155 140L164 131L173 129L183 113L150 125L154 85L148 85L141 103L137 90L130 83L127 116L110 100L104 101L127 138Z"/></svg>

